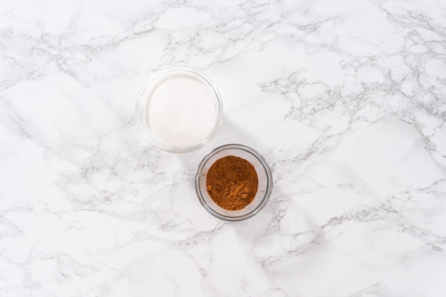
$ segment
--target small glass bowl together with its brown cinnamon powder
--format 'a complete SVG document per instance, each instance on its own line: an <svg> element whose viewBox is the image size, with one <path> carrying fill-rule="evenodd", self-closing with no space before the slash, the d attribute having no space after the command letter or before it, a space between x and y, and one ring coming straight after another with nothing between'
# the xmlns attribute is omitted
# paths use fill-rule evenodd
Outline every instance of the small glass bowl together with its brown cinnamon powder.
<svg viewBox="0 0 446 297"><path fill-rule="evenodd" d="M209 213L227 221L257 214L268 202L272 187L268 163L246 145L223 145L212 150L195 176L199 202Z"/></svg>

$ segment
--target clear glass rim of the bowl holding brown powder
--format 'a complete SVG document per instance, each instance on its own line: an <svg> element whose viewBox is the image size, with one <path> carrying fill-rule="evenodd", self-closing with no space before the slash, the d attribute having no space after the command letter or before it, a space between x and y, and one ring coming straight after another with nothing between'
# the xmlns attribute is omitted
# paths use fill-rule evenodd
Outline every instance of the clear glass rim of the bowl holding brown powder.
<svg viewBox="0 0 446 297"><path fill-rule="evenodd" d="M251 212L248 212L247 214L244 214L244 215L238 216L238 217L228 217L224 214L220 214L219 212L214 211L214 209L212 209L212 207L210 207L209 204L207 204L207 202L204 200L204 197L202 196L202 193L201 193L200 187L199 187L200 175L201 175L201 172L204 168L204 165L207 163L207 161L211 157L214 157L214 155L217 155L219 152L223 152L224 150L228 150L228 149L237 149L237 150L244 150L245 152L249 152L249 154L253 155L254 157L256 157L257 160L259 160L259 162L264 167L264 170L266 172L267 185L266 185L266 191L265 191L264 197L261 200L261 203L256 208L252 209ZM271 197L272 189L273 189L273 177L272 177L272 173L271 173L271 168L269 167L268 162L266 162L265 158L262 155L260 155L259 152L254 150L253 148L248 147L247 145L240 145L237 143L221 145L219 147L214 148L214 150L212 150L211 152L209 152L209 154L207 154L203 157L202 161L198 165L197 173L195 174L195 192L197 194L199 202L202 204L204 209L207 210L207 212L212 214L214 217L223 219L225 221L231 221L231 222L242 221L244 219L249 219L250 217L253 217L254 215L258 214L260 212L260 210L263 209L265 207L266 203L269 201L269 197Z"/></svg>

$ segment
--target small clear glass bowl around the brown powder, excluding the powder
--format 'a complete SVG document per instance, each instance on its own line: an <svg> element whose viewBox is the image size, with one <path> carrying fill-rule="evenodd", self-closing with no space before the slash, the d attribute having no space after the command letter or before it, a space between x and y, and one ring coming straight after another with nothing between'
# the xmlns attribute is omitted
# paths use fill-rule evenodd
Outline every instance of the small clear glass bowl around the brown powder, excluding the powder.
<svg viewBox="0 0 446 297"><path fill-rule="evenodd" d="M259 177L259 189L257 189L256 196L250 204L244 209L239 210L227 210L219 207L217 203L209 197L206 189L206 177L209 168L215 161L222 157L235 156L241 157L244 160L250 162L257 172ZM254 216L266 205L273 189L273 177L268 163L259 152L247 147L246 145L222 145L212 150L206 155L202 162L199 163L197 174L195 175L195 192L199 202L203 207L212 215L219 219L227 221L241 221Z"/></svg>

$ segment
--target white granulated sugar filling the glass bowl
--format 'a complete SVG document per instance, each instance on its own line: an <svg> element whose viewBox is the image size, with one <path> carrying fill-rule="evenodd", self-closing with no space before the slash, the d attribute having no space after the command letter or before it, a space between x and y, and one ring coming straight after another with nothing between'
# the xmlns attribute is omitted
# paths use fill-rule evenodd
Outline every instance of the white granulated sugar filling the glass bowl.
<svg viewBox="0 0 446 297"><path fill-rule="evenodd" d="M197 78L173 75L153 90L147 118L159 142L180 149L194 147L217 125L217 100L209 86Z"/></svg>

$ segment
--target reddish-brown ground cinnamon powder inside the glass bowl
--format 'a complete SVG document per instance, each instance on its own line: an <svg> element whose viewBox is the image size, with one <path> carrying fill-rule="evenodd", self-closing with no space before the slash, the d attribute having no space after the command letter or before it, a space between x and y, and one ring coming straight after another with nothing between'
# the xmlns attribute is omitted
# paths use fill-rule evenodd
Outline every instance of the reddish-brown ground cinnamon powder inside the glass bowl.
<svg viewBox="0 0 446 297"><path fill-rule="evenodd" d="M256 196L258 187L259 177L254 166L240 157L223 157L207 172L207 193L224 209L244 209Z"/></svg>

